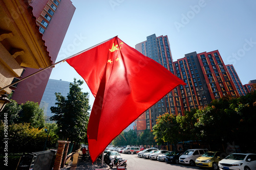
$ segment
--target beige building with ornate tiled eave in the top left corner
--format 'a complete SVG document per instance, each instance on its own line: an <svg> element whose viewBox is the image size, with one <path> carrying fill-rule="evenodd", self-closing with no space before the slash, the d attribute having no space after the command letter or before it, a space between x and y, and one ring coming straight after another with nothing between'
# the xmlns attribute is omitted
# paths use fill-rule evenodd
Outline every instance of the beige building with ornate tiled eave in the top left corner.
<svg viewBox="0 0 256 170"><path fill-rule="evenodd" d="M0 1L0 89L22 76L23 67L45 68L52 64L51 57L39 33L36 18L29 2L24 0ZM10 88L0 94L11 93ZM4 101L0 100L0 109Z"/></svg>

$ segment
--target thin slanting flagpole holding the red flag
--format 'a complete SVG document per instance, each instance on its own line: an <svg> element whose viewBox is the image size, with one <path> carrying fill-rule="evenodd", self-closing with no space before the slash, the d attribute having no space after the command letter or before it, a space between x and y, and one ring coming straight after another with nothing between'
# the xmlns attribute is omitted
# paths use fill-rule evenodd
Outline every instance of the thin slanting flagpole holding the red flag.
<svg viewBox="0 0 256 170"><path fill-rule="evenodd" d="M115 37L117 37L117 36L115 36ZM115 38L115 37L113 37L113 38ZM70 59L70 58L72 58L72 57L75 57L75 56L77 56L77 55L83 53L83 52L86 52L86 51L88 51L88 50L94 48L95 46L98 46L98 45L100 45L100 44L102 44L102 43L104 43L104 42L106 42L106 41L109 41L109 40L111 40L111 39L113 39L113 38L110 38L110 39L108 39L108 40L105 40L105 41L103 41L103 42L101 42L101 43L98 43L98 44L96 44L96 45L94 45L94 46L92 46L92 47L90 47L90 48L87 48L86 50L83 50L83 51L81 51L81 52L79 52L79 53L77 53L77 54L74 54L74 55L72 55L72 56L70 56L70 57L68 57L68 58L65 58L65 59L63 59L63 60L60 60L60 61L58 61L58 62L56 62L56 63L54 63L54 64L52 64L52 65L50 65L50 66L48 66L48 67L46 67L46 68L40 69L40 70L34 72L33 74L31 74L31 75L29 75L29 76L27 76L27 77L25 77L25 78L23 78L23 79L20 79L20 80L14 82L14 83L12 83L12 84L10 84L10 85L8 85L8 86L5 86L5 87L1 88L0 91L4 90L4 89L6 89L6 88L8 88L8 87L10 87L10 86L13 86L14 84L17 84L17 83L19 83L19 82L21 82L21 81L23 81L23 80L26 80L26 79L28 79L28 78L30 78L30 77L32 77L32 76L38 74L38 73L41 72L41 71L44 71L44 70L46 70L46 69L48 69L48 68L51 68L51 67L55 66L55 65L58 64L58 63L64 62L64 61L66 61L67 59Z"/></svg>

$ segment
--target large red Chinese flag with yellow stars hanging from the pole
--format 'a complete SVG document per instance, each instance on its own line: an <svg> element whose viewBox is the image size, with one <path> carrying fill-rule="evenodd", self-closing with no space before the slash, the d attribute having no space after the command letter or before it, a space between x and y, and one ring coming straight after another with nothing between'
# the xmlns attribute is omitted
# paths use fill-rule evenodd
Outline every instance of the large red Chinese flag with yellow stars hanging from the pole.
<svg viewBox="0 0 256 170"><path fill-rule="evenodd" d="M66 60L95 96L88 124L92 161L145 110L185 83L114 37Z"/></svg>

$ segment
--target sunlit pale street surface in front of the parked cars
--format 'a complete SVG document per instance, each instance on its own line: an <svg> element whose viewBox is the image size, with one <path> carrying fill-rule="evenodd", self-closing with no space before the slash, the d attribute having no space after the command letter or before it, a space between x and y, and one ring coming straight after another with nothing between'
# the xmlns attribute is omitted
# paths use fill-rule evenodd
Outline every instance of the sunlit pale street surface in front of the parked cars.
<svg viewBox="0 0 256 170"><path fill-rule="evenodd" d="M138 158L137 154L120 154L123 159L127 160L127 170L189 170L189 169L200 169L198 166L189 166L185 164L170 164L166 162L160 162L158 160ZM114 166L112 169L117 169Z"/></svg>

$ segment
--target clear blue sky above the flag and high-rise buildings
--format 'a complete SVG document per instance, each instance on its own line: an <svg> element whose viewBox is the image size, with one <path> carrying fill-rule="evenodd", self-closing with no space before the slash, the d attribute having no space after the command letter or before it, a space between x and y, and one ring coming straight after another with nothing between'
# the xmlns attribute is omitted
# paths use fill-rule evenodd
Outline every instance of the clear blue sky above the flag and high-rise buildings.
<svg viewBox="0 0 256 170"><path fill-rule="evenodd" d="M242 84L256 79L256 1L71 0L76 11L57 61L116 35L135 47L152 34L167 35L173 60L191 52L219 50ZM82 79L66 62L50 79ZM90 91L86 83L83 91ZM90 104L94 97L90 94Z"/></svg>

